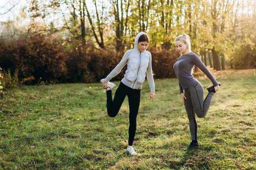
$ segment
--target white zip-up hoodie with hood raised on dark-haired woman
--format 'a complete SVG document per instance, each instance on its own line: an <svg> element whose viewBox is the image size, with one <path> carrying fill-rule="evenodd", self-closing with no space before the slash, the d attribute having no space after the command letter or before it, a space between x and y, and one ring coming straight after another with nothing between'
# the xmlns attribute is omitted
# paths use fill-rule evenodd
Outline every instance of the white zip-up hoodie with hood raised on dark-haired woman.
<svg viewBox="0 0 256 170"><path fill-rule="evenodd" d="M140 32L135 37L134 48L127 50L124 53L121 61L117 66L108 74L104 81L108 82L113 77L117 76L127 64L127 70L124 74L124 78L121 80L122 83L132 89L141 89L142 84L147 77L147 81L150 87L150 92L155 92L155 82L152 73L152 56L149 51L140 52L138 48L138 40L141 35L146 33Z"/></svg>

